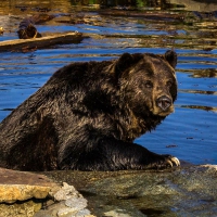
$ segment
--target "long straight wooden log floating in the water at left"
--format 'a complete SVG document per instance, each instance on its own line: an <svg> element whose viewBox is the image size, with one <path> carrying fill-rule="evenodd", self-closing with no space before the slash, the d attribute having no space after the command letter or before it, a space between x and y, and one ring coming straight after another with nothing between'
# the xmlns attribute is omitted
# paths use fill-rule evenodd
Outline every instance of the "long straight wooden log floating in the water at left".
<svg viewBox="0 0 217 217"><path fill-rule="evenodd" d="M36 50L63 43L79 43L84 38L87 38L87 36L84 37L80 33L67 33L44 36L42 38L5 40L0 42L0 52Z"/></svg>

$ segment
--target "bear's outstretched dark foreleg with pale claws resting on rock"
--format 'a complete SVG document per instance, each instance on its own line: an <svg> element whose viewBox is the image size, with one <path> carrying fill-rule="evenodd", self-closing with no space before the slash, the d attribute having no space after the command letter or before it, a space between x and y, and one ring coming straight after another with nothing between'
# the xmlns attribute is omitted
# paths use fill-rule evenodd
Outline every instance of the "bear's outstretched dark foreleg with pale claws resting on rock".
<svg viewBox="0 0 217 217"><path fill-rule="evenodd" d="M91 149L90 146L88 149L84 148L82 151L80 149L74 149L72 153L68 152L69 149L65 149L67 151L62 155L63 158L60 163L60 168L78 170L126 170L163 169L180 165L177 157L159 155L139 144L124 142L113 138L102 139L92 145Z"/></svg>

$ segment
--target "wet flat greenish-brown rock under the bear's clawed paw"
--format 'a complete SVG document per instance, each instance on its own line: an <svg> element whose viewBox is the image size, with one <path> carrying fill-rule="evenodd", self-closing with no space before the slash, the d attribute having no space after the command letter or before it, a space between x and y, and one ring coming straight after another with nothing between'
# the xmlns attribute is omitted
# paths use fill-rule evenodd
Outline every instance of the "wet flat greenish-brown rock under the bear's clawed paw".
<svg viewBox="0 0 217 217"><path fill-rule="evenodd" d="M97 216L217 216L217 166L164 171L52 171L88 200Z"/></svg>

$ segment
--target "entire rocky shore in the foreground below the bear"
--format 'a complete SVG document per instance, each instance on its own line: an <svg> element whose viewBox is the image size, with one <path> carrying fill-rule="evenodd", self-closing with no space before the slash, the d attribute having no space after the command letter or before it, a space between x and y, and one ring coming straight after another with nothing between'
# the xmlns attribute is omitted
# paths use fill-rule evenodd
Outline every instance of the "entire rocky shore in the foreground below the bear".
<svg viewBox="0 0 217 217"><path fill-rule="evenodd" d="M43 175L1 168L0 177L4 217L217 215L217 165Z"/></svg>

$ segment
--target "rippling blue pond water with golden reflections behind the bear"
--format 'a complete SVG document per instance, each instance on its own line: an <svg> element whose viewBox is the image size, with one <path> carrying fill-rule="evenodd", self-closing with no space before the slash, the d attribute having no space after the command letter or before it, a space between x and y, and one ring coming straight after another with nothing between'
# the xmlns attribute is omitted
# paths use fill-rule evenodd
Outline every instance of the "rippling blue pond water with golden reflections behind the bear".
<svg viewBox="0 0 217 217"><path fill-rule="evenodd" d="M119 1L120 5L126 2ZM162 3L161 3L162 2ZM51 14L79 14L84 23L69 24L69 16L38 25L38 31L79 31L90 38L31 52L2 52L0 59L0 120L40 88L60 67L74 61L102 61L123 52L164 53L175 49L178 100L176 112L155 131L136 142L157 153L170 153L193 164L217 164L217 3L171 0L137 1L141 12L169 13L183 18L110 16L98 4L79 1L7 0L0 2L0 41L17 38L18 23L27 15L49 9ZM90 2L91 3L91 2ZM92 1L92 3L98 3ZM112 1L108 2L113 4ZM184 3L186 7L182 4ZM194 10L196 11L192 12ZM208 8L209 7L209 8ZM123 8L116 7L123 11Z"/></svg>

